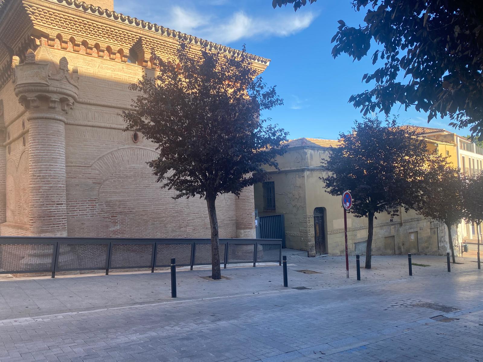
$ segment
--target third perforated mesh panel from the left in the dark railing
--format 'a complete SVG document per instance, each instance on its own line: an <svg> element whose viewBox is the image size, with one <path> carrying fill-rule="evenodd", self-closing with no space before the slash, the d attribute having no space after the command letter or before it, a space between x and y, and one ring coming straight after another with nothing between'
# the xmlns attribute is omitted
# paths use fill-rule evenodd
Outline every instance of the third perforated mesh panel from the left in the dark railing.
<svg viewBox="0 0 483 362"><path fill-rule="evenodd" d="M154 244L114 244L110 268L150 268Z"/></svg>

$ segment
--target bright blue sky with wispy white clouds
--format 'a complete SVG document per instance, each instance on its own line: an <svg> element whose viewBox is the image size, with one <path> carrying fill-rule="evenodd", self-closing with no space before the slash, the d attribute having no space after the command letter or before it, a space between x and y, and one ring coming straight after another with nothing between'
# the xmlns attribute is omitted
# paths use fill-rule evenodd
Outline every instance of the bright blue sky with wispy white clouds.
<svg viewBox="0 0 483 362"><path fill-rule="evenodd" d="M361 79L375 66L369 56L355 62L346 55L331 56L337 21L356 26L364 18L365 12L355 12L350 0L319 0L297 13L290 7L273 10L271 0L114 0L114 10L233 48L246 44L250 53L270 58L262 77L277 85L285 104L265 116L292 139L336 139L361 119L347 101L369 88ZM393 113L401 124L428 125L427 115L414 109L397 105ZM451 130L449 122L436 119L429 126Z"/></svg>

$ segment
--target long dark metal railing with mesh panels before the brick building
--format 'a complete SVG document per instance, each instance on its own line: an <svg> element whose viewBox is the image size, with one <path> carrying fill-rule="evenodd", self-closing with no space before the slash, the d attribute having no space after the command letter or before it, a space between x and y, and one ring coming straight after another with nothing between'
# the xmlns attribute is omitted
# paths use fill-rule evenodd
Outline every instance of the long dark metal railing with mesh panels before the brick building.
<svg viewBox="0 0 483 362"><path fill-rule="evenodd" d="M282 263L282 240L220 239L220 263ZM0 274L211 265L210 239L0 237Z"/></svg>

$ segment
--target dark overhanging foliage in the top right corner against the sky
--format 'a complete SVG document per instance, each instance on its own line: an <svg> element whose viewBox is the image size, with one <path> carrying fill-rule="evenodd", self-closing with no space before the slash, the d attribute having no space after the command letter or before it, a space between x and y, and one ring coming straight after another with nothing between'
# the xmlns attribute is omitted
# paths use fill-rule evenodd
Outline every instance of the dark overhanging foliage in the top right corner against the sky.
<svg viewBox="0 0 483 362"><path fill-rule="evenodd" d="M282 6L300 1L276 1ZM339 20L332 55L360 60L369 55L378 64L362 80L370 90L349 101L364 115L389 114L395 104L406 109L448 116L450 125L470 126L483 140L483 1L353 0L356 11L367 9L365 24L351 27Z"/></svg>

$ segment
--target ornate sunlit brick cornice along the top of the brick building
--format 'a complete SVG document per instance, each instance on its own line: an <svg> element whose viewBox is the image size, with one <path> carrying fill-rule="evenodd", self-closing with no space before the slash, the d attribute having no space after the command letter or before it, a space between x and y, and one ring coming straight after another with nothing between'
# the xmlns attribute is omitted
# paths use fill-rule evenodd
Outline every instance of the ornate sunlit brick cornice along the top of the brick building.
<svg viewBox="0 0 483 362"><path fill-rule="evenodd" d="M179 42L194 53L211 49L227 55L240 50L125 16L78 0L0 0L0 88L12 78L12 56L23 62L27 50L47 46L86 56L128 62L130 49L138 52L137 64L155 69L154 49L164 59L175 60ZM261 73L270 60L249 55Z"/></svg>

